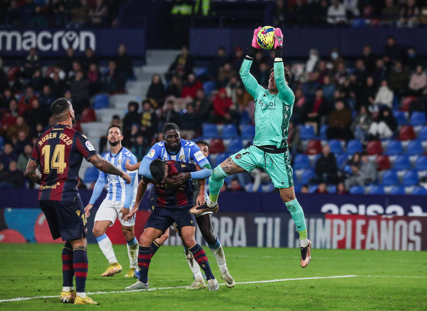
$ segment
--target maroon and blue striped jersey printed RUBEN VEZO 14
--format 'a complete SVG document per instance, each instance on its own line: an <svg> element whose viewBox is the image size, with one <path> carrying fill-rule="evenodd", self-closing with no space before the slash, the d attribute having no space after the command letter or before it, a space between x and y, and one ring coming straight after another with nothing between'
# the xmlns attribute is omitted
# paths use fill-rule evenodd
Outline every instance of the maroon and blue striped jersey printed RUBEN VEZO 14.
<svg viewBox="0 0 427 311"><path fill-rule="evenodd" d="M77 183L82 159L97 155L90 141L64 124L44 132L32 150L30 160L40 163L38 200L73 201L79 196Z"/></svg>

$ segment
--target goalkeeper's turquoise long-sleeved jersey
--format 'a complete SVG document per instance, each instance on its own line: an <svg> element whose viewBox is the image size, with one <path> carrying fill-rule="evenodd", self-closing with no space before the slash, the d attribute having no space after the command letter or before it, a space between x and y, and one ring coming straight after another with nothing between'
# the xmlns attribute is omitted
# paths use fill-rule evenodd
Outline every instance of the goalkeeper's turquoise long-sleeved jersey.
<svg viewBox="0 0 427 311"><path fill-rule="evenodd" d="M249 94L255 102L255 146L273 145L277 148L288 146L289 119L295 100L284 75L283 62L274 63L274 78L278 94L270 94L268 90L258 84L249 73L252 60L243 60L240 67L240 77Z"/></svg>

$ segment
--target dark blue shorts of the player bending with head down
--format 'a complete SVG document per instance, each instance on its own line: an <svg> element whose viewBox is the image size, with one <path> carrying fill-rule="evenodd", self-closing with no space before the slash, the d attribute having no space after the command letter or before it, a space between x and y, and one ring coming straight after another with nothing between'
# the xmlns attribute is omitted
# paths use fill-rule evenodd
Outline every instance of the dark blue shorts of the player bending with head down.
<svg viewBox="0 0 427 311"><path fill-rule="evenodd" d="M174 222L178 224L178 231L185 226L196 226L196 218L190 213L191 206L180 208L166 208L156 206L145 223L145 228L155 228L165 232Z"/></svg>

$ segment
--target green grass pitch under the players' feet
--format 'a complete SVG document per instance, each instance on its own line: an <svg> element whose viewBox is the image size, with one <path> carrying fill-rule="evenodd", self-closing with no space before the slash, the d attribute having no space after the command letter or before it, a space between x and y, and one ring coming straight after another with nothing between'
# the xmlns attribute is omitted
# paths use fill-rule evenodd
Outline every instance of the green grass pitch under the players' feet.
<svg viewBox="0 0 427 311"><path fill-rule="evenodd" d="M1 244L0 300L59 296L62 288L61 244ZM213 274L219 269L205 247ZM126 245L115 245L123 272L103 278L108 262L96 244L88 246L86 291L99 306L61 304L58 297L0 302L0 310L427 310L427 252L312 249L310 265L299 266L299 249L225 247L228 270L236 284L216 292L169 288L193 279L183 251L163 246L150 264L152 291L113 293L135 282L125 278ZM326 276L349 276L322 279ZM313 278L313 279L298 279ZM319 279L314 279L319 278ZM222 280L219 279L222 283Z"/></svg>

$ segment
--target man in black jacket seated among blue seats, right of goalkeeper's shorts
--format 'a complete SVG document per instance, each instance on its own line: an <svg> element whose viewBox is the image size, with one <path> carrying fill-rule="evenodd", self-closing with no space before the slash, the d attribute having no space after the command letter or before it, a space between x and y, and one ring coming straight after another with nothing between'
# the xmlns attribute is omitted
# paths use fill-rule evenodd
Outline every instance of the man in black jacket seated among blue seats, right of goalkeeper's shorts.
<svg viewBox="0 0 427 311"><path fill-rule="evenodd" d="M316 176L312 178L312 183L336 182L336 158L333 153L330 152L328 145L325 145L322 149L322 155L317 159L316 165L314 166L314 172Z"/></svg>

